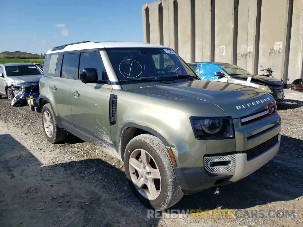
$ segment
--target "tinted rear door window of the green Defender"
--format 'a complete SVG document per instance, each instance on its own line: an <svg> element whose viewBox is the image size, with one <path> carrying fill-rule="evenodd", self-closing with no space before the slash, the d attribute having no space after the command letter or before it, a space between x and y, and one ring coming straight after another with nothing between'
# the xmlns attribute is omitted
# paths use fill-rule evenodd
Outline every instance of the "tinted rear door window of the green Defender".
<svg viewBox="0 0 303 227"><path fill-rule="evenodd" d="M79 62L79 54L64 54L62 62L61 77L75 79L76 65ZM78 68L78 67L77 67Z"/></svg>

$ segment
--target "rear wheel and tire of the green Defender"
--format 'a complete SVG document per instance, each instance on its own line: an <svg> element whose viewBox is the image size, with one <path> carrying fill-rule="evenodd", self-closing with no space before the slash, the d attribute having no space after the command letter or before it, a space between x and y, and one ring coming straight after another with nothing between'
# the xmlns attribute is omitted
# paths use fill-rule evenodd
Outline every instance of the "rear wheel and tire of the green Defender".
<svg viewBox="0 0 303 227"><path fill-rule="evenodd" d="M65 140L67 133L58 127L50 104L45 104L42 108L42 127L45 137L49 142L60 143Z"/></svg>

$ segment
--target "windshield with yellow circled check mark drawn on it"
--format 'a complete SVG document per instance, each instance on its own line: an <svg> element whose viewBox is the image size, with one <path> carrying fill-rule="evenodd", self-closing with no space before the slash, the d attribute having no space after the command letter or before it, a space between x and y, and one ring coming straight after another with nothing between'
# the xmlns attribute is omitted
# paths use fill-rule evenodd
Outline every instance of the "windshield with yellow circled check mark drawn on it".
<svg viewBox="0 0 303 227"><path fill-rule="evenodd" d="M119 81L141 77L196 77L190 67L171 49L108 48L108 57Z"/></svg>

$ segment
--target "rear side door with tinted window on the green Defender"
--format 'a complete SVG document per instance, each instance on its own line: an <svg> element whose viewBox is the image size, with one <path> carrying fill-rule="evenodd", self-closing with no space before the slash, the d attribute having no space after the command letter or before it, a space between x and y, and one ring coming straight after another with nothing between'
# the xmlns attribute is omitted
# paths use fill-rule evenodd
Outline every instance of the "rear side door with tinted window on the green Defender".
<svg viewBox="0 0 303 227"><path fill-rule="evenodd" d="M55 61L55 60L54 60ZM53 107L59 127L73 133L75 125L73 123L71 109L71 87L78 71L79 53L59 54L57 57L56 73L48 83L48 97L52 97Z"/></svg>

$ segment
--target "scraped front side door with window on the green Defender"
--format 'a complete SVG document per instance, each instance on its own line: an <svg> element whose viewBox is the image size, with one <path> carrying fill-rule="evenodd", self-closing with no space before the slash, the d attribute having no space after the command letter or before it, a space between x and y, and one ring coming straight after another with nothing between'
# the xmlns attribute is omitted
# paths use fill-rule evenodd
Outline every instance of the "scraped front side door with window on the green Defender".
<svg viewBox="0 0 303 227"><path fill-rule="evenodd" d="M83 68L95 68L98 72L98 80L108 80L100 52L98 50L81 52L76 79L71 89L75 135L115 155L112 152L109 124L109 99L112 86L84 84L79 80L79 71Z"/></svg>

